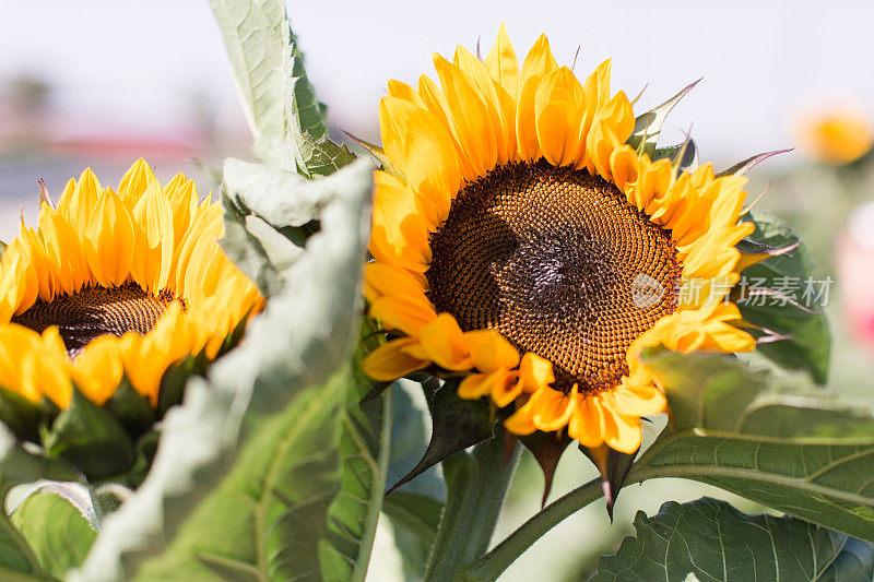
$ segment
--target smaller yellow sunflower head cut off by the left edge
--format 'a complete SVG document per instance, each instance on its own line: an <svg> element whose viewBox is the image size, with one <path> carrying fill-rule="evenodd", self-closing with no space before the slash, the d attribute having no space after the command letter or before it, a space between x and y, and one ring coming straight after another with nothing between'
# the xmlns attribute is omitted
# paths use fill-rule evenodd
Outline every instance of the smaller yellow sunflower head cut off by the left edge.
<svg viewBox="0 0 874 582"><path fill-rule="evenodd" d="M213 359L262 298L218 248L222 209L140 159L118 189L86 169L0 260L0 388L59 408L122 380L157 404L188 356Z"/></svg>

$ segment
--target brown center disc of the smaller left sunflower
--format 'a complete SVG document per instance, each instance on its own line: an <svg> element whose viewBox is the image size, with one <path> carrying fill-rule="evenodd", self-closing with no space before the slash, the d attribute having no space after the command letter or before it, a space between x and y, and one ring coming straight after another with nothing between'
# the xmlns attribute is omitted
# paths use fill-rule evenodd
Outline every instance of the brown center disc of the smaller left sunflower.
<svg viewBox="0 0 874 582"><path fill-rule="evenodd" d="M149 333L174 300L169 294L165 295L154 297L134 284L83 288L51 301L37 300L27 311L12 318L12 322L37 333L57 325L72 358L88 342L107 333L118 337L130 331Z"/></svg>

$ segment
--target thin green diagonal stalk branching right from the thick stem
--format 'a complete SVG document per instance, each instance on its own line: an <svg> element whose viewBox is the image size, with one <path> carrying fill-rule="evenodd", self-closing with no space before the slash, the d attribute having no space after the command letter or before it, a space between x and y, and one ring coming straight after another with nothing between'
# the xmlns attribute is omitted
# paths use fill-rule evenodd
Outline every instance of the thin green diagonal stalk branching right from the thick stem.
<svg viewBox="0 0 874 582"><path fill-rule="evenodd" d="M558 525L565 518L579 511L604 496L601 477L559 497L533 518L519 526L492 551L465 563L459 569L456 581L496 580L516 558L540 539L546 532Z"/></svg>

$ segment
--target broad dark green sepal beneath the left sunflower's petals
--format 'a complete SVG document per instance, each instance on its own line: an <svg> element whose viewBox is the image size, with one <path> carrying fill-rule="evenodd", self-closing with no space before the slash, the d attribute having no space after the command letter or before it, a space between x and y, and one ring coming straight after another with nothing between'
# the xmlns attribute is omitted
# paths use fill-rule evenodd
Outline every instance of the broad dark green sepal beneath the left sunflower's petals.
<svg viewBox="0 0 874 582"><path fill-rule="evenodd" d="M62 456L88 480L101 480L133 466L133 444L121 423L73 388L70 406L61 411L45 435L48 456Z"/></svg>

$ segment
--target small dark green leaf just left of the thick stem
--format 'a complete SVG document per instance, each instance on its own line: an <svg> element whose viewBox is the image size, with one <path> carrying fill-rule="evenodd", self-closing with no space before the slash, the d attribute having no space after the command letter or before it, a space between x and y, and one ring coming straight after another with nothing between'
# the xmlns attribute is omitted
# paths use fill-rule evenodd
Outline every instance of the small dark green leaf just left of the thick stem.
<svg viewBox="0 0 874 582"><path fill-rule="evenodd" d="M382 512L394 530L394 544L408 580L421 580L425 575L425 562L442 511L442 502L425 495L395 491L386 497Z"/></svg>

